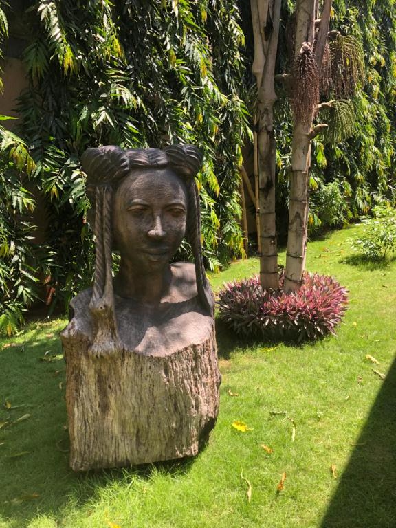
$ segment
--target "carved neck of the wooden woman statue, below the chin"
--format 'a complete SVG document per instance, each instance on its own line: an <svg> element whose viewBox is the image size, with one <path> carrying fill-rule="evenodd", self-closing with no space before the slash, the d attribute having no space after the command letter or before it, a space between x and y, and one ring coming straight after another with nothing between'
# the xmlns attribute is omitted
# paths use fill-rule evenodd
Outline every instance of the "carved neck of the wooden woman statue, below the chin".
<svg viewBox="0 0 396 528"><path fill-rule="evenodd" d="M114 278L114 291L120 297L155 305L168 293L171 278L170 265L158 271L142 274L133 269L131 263L121 259L120 269Z"/></svg>

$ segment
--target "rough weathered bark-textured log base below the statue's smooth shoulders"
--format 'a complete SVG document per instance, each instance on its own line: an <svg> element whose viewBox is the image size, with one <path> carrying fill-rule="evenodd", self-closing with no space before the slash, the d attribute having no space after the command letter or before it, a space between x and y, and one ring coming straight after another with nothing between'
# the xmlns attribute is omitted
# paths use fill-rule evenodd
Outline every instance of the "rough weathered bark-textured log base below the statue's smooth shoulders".
<svg viewBox="0 0 396 528"><path fill-rule="evenodd" d="M75 471L198 453L219 410L214 326L170 355L129 349L96 356L72 323L63 332L66 403Z"/></svg>

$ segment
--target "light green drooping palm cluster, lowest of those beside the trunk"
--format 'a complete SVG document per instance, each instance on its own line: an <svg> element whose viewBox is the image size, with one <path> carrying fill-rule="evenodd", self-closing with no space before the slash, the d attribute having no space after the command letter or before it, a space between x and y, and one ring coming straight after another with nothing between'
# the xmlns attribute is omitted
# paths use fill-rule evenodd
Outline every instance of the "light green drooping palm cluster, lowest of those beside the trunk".
<svg viewBox="0 0 396 528"><path fill-rule="evenodd" d="M327 109L325 122L329 125L325 133L325 141L336 145L353 135L355 129L355 109L348 99L331 101Z"/></svg>

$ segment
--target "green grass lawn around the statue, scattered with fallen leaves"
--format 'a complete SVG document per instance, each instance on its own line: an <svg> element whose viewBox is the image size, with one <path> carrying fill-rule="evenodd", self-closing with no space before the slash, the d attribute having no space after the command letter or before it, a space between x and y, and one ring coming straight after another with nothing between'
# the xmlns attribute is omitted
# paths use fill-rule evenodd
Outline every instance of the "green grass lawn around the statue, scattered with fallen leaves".
<svg viewBox="0 0 396 528"><path fill-rule="evenodd" d="M0 528L395 527L396 263L351 259L347 239L360 228L308 248L307 269L332 274L350 290L337 338L303 347L246 345L218 325L219 419L206 449L190 461L73 474L58 339L65 320L3 340L0 401L12 406L2 408L0 423L30 417L0 429ZM218 290L257 270L257 259L233 263L211 276L212 285ZM3 348L8 342L17 344ZM47 351L51 362L40 360ZM252 430L238 432L234 420ZM283 472L285 489L277 494Z"/></svg>

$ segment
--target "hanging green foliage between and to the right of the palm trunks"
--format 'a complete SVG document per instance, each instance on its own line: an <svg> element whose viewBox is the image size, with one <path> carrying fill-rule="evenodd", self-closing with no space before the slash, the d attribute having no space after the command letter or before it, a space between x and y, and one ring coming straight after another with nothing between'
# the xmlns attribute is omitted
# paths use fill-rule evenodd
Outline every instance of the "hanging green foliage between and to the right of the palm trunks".
<svg viewBox="0 0 396 528"><path fill-rule="evenodd" d="M241 3L242 5L242 3ZM276 72L289 72L290 32L294 3L283 2L280 41ZM358 50L364 54L364 74L361 58L356 56L353 69L358 91L351 98L348 107L320 110L318 120L329 123L329 131L318 135L313 142L311 159L311 190L320 182L327 185L334 180L342 181L342 196L347 204L347 217L359 219L368 214L375 205L373 195L379 193L391 198L395 187L393 167L396 164L396 4L395 0L364 2L362 0L333 0L333 16L330 30L339 31L342 43L351 47L355 39ZM252 41L248 34L249 13L244 12L243 30L247 35L247 56L253 56ZM341 41L340 41L341 42ZM333 43L334 46L334 43ZM344 46L345 47L345 46ZM355 50L355 51L358 51ZM344 50L345 51L345 50ZM353 50L350 50L353 52ZM359 73L358 73L359 72ZM335 76L335 74L333 74ZM249 82L249 80L248 80ZM321 102L336 99L334 87L324 94ZM278 181L276 188L276 211L278 233L285 239L288 217L289 166L292 149L292 115L287 93L282 83L276 83L278 102L275 105L274 126L276 135ZM351 104L353 105L353 111ZM353 119L353 114L355 118ZM322 188L322 187L320 187ZM315 201L318 192L312 193L314 201L313 221L327 220L320 217Z"/></svg>

